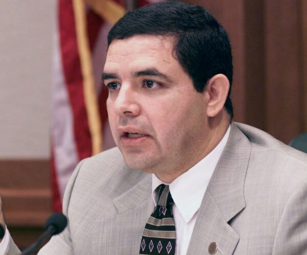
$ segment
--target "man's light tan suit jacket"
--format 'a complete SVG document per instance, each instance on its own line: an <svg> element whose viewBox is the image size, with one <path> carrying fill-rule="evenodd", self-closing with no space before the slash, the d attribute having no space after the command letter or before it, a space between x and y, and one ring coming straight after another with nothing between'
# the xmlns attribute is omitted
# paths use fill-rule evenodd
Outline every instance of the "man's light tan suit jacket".
<svg viewBox="0 0 307 255"><path fill-rule="evenodd" d="M74 171L69 225L39 254L138 254L152 210L151 175L129 169L117 148L105 151ZM232 123L187 253L210 254L212 242L215 254L307 254L307 155Z"/></svg>

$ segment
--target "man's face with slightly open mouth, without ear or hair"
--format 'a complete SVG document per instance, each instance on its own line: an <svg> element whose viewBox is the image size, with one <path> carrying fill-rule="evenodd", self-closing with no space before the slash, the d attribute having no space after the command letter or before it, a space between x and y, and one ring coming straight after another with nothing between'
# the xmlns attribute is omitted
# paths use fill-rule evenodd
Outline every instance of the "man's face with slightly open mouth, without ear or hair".
<svg viewBox="0 0 307 255"><path fill-rule="evenodd" d="M107 111L126 164L171 182L204 157L206 93L174 59L173 39L135 35L114 40L103 72Z"/></svg>

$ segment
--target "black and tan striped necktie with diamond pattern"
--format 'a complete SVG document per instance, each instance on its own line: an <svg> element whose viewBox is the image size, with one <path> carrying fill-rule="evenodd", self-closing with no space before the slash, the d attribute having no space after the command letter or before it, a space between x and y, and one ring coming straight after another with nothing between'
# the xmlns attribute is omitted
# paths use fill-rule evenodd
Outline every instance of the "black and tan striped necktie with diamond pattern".
<svg viewBox="0 0 307 255"><path fill-rule="evenodd" d="M171 207L174 203L168 185L157 188L159 198L143 232L140 254L175 254L176 230Z"/></svg>

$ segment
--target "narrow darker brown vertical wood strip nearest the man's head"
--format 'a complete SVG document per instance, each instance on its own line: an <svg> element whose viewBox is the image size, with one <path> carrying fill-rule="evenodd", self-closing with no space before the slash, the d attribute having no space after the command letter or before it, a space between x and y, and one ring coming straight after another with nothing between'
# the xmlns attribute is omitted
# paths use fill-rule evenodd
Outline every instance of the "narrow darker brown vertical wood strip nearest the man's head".
<svg viewBox="0 0 307 255"><path fill-rule="evenodd" d="M246 115L244 121L264 130L265 114L265 56L264 2L245 2L245 81Z"/></svg>

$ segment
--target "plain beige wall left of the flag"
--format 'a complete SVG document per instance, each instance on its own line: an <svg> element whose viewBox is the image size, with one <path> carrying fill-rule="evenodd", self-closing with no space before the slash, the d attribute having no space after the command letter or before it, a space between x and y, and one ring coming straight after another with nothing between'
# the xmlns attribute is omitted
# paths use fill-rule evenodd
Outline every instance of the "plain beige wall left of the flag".
<svg viewBox="0 0 307 255"><path fill-rule="evenodd" d="M55 0L0 0L0 159L49 158Z"/></svg>

